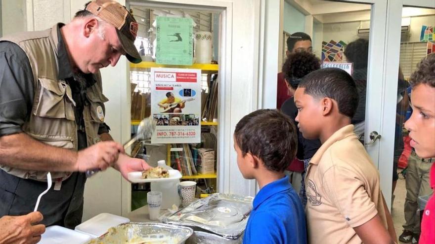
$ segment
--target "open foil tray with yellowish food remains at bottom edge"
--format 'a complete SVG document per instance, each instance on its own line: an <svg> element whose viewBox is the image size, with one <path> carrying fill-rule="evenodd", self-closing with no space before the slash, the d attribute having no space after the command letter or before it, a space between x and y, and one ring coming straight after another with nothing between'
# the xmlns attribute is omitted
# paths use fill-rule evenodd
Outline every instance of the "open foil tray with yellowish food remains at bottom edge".
<svg viewBox="0 0 435 244"><path fill-rule="evenodd" d="M184 226L129 222L87 244L183 244L192 234L193 230Z"/></svg>

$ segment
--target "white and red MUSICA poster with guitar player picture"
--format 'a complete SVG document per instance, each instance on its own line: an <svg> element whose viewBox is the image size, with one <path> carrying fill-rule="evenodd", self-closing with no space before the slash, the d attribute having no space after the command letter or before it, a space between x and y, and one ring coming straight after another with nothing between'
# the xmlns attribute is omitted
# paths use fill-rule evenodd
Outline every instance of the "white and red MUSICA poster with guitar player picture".
<svg viewBox="0 0 435 244"><path fill-rule="evenodd" d="M151 143L201 142L201 70L151 68Z"/></svg>

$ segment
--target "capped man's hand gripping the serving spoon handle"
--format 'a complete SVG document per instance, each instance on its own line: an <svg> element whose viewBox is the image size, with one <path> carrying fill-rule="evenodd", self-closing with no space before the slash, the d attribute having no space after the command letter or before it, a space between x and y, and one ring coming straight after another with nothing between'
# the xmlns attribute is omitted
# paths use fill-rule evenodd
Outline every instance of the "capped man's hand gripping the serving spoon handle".
<svg viewBox="0 0 435 244"><path fill-rule="evenodd" d="M103 171L118 160L120 152L124 153L124 147L115 141L98 142L78 152L76 168L79 172L93 169Z"/></svg>

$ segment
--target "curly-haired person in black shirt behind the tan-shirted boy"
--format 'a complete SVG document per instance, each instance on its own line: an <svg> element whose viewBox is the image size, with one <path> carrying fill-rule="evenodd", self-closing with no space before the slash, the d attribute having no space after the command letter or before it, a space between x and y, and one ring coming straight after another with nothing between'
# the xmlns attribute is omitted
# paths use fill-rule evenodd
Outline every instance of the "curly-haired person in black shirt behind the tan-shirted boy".
<svg viewBox="0 0 435 244"><path fill-rule="evenodd" d="M282 66L282 71L284 73L284 77L286 80L287 89L293 94L298 88L299 82L302 77L310 73L311 71L320 69L320 60L312 53L309 52L296 52L292 53L288 56L286 62ZM296 123L295 118L298 115L298 108L295 105L295 101L293 96L287 99L284 104L281 106L281 111L289 116L293 122ZM303 170L301 173L293 174L301 174L301 188L296 189L299 191L299 196L303 205L306 204L306 196L305 196L305 184L304 184L304 175L306 168L308 167L309 160L316 153L317 149L320 147L320 140L314 139L304 139L302 133L299 132L299 128L297 129L298 133L298 152L296 154L296 159L292 161L290 168L288 170L295 170L295 165L301 165ZM293 177L291 181L293 187L298 185L299 182L293 182L299 180L298 177Z"/></svg>

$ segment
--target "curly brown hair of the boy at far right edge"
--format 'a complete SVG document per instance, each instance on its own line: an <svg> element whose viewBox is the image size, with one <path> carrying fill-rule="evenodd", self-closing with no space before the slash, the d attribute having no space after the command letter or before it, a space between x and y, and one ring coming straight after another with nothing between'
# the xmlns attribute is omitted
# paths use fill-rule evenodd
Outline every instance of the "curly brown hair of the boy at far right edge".
<svg viewBox="0 0 435 244"><path fill-rule="evenodd" d="M412 87L419 84L428 84L435 87L435 53L429 54L417 66L409 78Z"/></svg>

